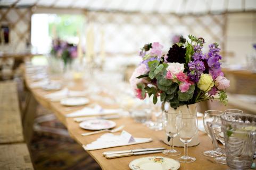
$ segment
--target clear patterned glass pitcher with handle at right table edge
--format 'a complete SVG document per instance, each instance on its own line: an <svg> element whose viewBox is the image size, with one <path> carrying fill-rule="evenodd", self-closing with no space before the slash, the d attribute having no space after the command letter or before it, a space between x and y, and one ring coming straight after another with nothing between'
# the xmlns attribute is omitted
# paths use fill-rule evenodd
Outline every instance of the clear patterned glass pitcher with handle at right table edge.
<svg viewBox="0 0 256 170"><path fill-rule="evenodd" d="M256 149L256 115L224 114L220 123L208 122L213 144L217 147L218 134L214 128L221 127L224 135L227 165L230 169L249 169Z"/></svg>

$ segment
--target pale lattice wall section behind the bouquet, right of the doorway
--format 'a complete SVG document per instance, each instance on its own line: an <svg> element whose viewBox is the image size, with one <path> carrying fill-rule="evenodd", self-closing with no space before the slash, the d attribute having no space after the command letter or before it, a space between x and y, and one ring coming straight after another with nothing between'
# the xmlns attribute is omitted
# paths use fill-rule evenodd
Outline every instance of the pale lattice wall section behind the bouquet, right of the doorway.
<svg viewBox="0 0 256 170"><path fill-rule="evenodd" d="M166 46L174 34L195 34L210 42L218 42L224 49L226 14L171 15L148 13L88 12L94 23L96 43L100 30L105 31L105 49L108 53L135 53L144 43L159 41ZM96 44L96 50L100 44Z"/></svg>

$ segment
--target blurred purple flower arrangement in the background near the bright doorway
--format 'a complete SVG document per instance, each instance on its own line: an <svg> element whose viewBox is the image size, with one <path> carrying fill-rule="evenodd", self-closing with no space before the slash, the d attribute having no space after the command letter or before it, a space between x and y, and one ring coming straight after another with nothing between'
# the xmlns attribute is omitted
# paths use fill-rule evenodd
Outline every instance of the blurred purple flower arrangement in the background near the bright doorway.
<svg viewBox="0 0 256 170"><path fill-rule="evenodd" d="M67 41L54 39L51 54L56 58L62 59L64 65L67 66L73 59L77 58L77 46Z"/></svg>

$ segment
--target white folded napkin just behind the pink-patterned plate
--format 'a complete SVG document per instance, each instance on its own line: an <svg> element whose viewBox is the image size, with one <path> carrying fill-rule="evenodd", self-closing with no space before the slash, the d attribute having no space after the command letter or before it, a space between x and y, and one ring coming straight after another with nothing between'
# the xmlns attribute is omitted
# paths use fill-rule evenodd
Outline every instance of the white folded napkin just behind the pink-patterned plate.
<svg viewBox="0 0 256 170"><path fill-rule="evenodd" d="M100 105L95 105L94 108L85 107L76 112L66 114L65 117L71 118L71 117L81 117L81 116L87 116L87 115L105 115L105 114L119 113L121 111L122 111L121 109L103 109Z"/></svg>

